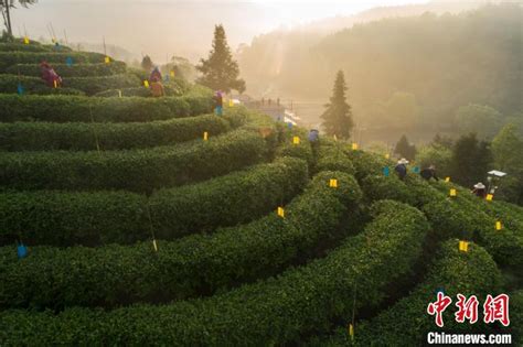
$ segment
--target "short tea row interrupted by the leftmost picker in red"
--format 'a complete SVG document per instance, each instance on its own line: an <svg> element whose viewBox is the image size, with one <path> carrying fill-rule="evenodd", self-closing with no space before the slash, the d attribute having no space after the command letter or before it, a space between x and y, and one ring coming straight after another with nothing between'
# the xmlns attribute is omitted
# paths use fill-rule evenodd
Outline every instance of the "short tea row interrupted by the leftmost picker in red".
<svg viewBox="0 0 523 347"><path fill-rule="evenodd" d="M113 62L111 64L52 64L54 71L62 77L97 77L126 73L126 63ZM40 64L17 64L6 69L7 74L41 77Z"/></svg>

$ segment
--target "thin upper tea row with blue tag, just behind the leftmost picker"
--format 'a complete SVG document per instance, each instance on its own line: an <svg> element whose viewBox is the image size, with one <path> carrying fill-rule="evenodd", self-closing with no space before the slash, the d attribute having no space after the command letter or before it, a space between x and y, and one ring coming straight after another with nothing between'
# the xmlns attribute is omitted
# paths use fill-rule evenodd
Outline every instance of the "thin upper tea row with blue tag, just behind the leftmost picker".
<svg viewBox="0 0 523 347"><path fill-rule="evenodd" d="M73 58L75 64L104 63L105 55L94 52L0 52L0 72L15 64L63 63Z"/></svg>

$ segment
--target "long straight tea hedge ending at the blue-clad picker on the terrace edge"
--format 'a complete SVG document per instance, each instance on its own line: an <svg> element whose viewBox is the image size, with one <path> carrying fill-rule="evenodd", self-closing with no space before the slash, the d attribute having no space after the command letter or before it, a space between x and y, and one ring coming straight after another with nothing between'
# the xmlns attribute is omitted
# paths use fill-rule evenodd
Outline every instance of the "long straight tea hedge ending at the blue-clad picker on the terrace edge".
<svg viewBox="0 0 523 347"><path fill-rule="evenodd" d="M211 109L210 95L164 98L0 95L2 122L143 122L209 113Z"/></svg>

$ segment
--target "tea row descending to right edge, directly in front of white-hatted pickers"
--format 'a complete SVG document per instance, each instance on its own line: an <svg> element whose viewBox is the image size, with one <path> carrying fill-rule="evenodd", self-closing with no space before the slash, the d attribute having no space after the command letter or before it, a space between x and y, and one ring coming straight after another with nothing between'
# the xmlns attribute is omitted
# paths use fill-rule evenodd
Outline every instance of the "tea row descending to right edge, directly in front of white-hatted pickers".
<svg viewBox="0 0 523 347"><path fill-rule="evenodd" d="M427 183L409 173L401 181L391 170L385 176L387 161L381 156L351 151L364 196L367 200L396 199L423 209L439 240L451 237L474 240L484 247L500 265L523 269L523 238L508 227L495 230L497 219L487 214L484 202L453 184ZM388 162L389 164L389 162ZM449 197L449 189L458 195Z"/></svg>

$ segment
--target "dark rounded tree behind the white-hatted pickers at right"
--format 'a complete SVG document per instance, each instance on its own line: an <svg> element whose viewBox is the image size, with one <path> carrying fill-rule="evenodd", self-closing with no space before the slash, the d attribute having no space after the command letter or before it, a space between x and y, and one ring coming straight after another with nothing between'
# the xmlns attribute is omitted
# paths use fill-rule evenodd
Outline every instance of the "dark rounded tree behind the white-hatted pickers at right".
<svg viewBox="0 0 523 347"><path fill-rule="evenodd" d="M490 144L479 141L476 133L462 135L456 141L451 159L452 181L465 186L484 183L491 164Z"/></svg>

